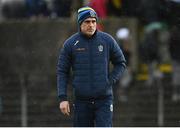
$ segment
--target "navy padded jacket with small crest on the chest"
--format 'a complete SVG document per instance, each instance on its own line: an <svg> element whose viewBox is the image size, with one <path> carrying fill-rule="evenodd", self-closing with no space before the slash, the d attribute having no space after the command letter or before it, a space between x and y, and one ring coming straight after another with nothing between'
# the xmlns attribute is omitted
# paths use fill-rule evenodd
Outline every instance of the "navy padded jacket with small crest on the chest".
<svg viewBox="0 0 180 128"><path fill-rule="evenodd" d="M110 72L110 61L113 70ZM91 38L81 32L64 43L57 64L60 101L67 100L67 84L72 69L72 86L77 99L112 96L112 86L125 70L124 55L107 33L96 31Z"/></svg>

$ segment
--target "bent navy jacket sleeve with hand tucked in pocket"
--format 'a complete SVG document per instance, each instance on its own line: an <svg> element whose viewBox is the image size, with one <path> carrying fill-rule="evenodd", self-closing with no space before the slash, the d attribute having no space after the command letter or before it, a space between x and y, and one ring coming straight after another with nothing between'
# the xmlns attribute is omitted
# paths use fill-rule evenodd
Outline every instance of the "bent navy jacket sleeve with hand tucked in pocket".
<svg viewBox="0 0 180 128"><path fill-rule="evenodd" d="M113 38L110 45L110 61L113 64L113 70L109 75L109 81L114 85L126 69L126 60L122 50Z"/></svg>

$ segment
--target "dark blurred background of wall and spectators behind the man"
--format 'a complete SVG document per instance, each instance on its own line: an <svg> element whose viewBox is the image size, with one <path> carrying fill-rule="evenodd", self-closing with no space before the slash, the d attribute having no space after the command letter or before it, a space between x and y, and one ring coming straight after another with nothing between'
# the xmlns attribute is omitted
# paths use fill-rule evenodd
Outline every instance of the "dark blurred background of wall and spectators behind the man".
<svg viewBox="0 0 180 128"><path fill-rule="evenodd" d="M86 5L127 59L114 126L180 126L180 0L0 0L0 126L72 126L59 110L56 64Z"/></svg>

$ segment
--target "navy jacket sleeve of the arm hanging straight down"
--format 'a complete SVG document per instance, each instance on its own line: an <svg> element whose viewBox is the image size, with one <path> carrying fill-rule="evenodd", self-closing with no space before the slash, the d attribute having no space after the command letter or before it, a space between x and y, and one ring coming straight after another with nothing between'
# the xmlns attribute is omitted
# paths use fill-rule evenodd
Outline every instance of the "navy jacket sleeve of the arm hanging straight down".
<svg viewBox="0 0 180 128"><path fill-rule="evenodd" d="M67 100L67 85L71 69L71 48L67 42L60 51L57 64L57 90L60 102Z"/></svg>

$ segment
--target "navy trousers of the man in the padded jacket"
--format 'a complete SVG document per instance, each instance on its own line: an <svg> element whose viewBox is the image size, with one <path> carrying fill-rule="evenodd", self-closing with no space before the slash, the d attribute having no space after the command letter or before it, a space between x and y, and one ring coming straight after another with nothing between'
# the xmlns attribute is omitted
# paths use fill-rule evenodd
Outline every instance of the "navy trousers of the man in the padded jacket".
<svg viewBox="0 0 180 128"><path fill-rule="evenodd" d="M74 127L112 127L112 116L112 98L74 103Z"/></svg>

